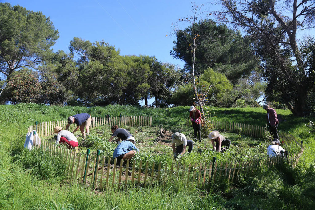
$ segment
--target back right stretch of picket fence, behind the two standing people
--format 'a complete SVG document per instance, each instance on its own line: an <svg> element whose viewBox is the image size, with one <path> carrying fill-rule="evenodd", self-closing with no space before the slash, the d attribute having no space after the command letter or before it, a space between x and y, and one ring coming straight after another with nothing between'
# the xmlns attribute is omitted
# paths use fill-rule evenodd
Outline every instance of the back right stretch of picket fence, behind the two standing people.
<svg viewBox="0 0 315 210"><path fill-rule="evenodd" d="M241 133L244 135L252 136L255 138L262 138L264 136L264 132L269 132L269 128L250 125L245 123L235 123L235 122L221 122L214 119L211 119L213 130L221 130L221 131L229 131L232 133ZM187 119L186 122L187 127L192 126L190 118ZM299 147L302 146L303 141L298 139L297 137L291 135L290 133L285 133L282 131L278 131L279 140L282 142L282 145L297 145Z"/></svg>

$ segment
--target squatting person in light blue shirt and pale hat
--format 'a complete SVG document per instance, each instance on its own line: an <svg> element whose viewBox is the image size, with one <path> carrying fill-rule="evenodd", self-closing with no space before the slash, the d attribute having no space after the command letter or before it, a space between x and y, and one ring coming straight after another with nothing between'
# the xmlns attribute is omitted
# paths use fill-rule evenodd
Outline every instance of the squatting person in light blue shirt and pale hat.
<svg viewBox="0 0 315 210"><path fill-rule="evenodd" d="M113 152L113 158L117 158L117 165L120 165L121 159L129 159L130 161L137 152L139 152L139 149L135 146L135 138L133 136L129 136L116 147ZM123 165L125 165L125 162Z"/></svg>

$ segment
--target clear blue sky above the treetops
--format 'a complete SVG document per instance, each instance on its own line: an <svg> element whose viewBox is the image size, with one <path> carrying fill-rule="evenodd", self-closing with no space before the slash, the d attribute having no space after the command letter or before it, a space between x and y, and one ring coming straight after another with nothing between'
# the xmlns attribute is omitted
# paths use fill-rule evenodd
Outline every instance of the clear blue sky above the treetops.
<svg viewBox="0 0 315 210"><path fill-rule="evenodd" d="M4 2L4 1L1 1ZM181 60L169 54L175 36L170 37L171 24L179 18L192 15L192 3L185 0L9 0L28 10L42 11L59 30L59 39L53 46L69 52L73 37L90 42L104 40L121 55L155 55L161 62L178 64ZM200 5L205 1L195 1ZM207 6L204 6L206 9ZM208 7L209 8L209 7ZM188 26L188 25L186 25ZM185 25L183 26L185 28ZM166 37L166 35L168 35Z"/></svg>

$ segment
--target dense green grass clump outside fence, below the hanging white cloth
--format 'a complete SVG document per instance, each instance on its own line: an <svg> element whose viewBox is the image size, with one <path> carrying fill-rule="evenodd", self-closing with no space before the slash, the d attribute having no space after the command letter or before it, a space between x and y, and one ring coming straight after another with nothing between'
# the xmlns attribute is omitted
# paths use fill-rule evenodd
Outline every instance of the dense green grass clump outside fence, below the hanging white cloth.
<svg viewBox="0 0 315 210"><path fill-rule="evenodd" d="M25 169L30 169L31 174L37 179L65 179L66 160L64 156L48 150L34 149L23 150L19 155L19 162Z"/></svg>

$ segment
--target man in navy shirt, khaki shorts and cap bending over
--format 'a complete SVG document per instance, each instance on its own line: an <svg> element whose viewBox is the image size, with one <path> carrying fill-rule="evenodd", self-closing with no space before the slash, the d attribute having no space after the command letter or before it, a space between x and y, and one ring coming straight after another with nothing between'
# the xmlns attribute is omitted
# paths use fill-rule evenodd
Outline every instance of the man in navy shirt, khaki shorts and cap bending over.
<svg viewBox="0 0 315 210"><path fill-rule="evenodd" d="M80 128L82 136L85 139L84 127L86 130L86 134L89 135L89 132L90 132L89 127L91 126L91 122L92 122L92 117L90 114L85 113L85 114L77 114L77 115L69 116L68 124L66 125L65 130L68 130L69 126L72 123L76 123L77 128L75 128L72 133L76 132Z"/></svg>

